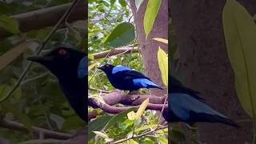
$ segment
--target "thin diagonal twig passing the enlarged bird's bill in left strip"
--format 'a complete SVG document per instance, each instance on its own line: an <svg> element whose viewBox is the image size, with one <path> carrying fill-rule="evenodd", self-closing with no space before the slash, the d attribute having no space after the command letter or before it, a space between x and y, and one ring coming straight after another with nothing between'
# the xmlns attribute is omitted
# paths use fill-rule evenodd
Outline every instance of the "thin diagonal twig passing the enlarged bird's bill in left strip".
<svg viewBox="0 0 256 144"><path fill-rule="evenodd" d="M77 4L79 0L74 0L74 2L72 3L72 5L70 6L70 8L68 10L66 10L65 14L63 14L62 18L60 18L57 22L57 24L54 26L54 28L50 31L50 33L46 36L46 38L43 40L42 45L40 45L38 47L38 51L35 53L36 55L40 54L40 52L42 51L42 49L44 48L44 46L46 46L46 43L50 40L51 36L54 34L54 32L58 29L58 26L60 26L60 24L62 23L62 21L64 19L66 19L66 17L72 12L73 7ZM20 85L20 83L22 82L23 78L26 77L26 74L28 72L28 70L30 70L30 66L31 66L32 62L29 62L25 68L25 70L22 72L21 76L18 78L18 81L16 82L16 84L13 86L13 88L10 90L10 92L6 95L6 97L1 101L5 101L7 98L10 97L11 94L14 93L14 91L18 88L18 86Z"/></svg>

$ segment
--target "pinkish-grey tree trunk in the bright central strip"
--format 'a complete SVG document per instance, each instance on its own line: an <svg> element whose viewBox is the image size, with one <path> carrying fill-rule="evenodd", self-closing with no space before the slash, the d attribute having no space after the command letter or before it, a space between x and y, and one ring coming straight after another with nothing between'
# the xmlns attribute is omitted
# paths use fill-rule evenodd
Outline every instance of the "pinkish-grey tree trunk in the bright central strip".
<svg viewBox="0 0 256 144"><path fill-rule="evenodd" d="M168 39L168 0L162 0L162 5L159 9L157 18L154 21L154 26L146 39L143 18L147 3L147 0L143 1L139 10L136 11L135 1L130 0L130 8L134 14L134 22L137 30L138 43L142 52L145 74L154 82L160 84L160 86L165 87L162 83L161 73L158 67L157 52L158 46L161 46L161 48L168 53L167 45L162 42L154 41L152 38ZM151 89L150 92L154 95L166 94L166 90Z"/></svg>

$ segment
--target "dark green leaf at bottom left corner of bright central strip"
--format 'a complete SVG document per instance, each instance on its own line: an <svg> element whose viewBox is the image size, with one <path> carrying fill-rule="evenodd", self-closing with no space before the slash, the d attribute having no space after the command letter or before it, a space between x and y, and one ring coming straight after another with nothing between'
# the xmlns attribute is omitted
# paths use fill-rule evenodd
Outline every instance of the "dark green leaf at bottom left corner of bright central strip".
<svg viewBox="0 0 256 144"><path fill-rule="evenodd" d="M94 138L95 134L92 131L102 130L111 118L112 116L103 115L102 117L96 118L94 121L90 121L88 123L88 139Z"/></svg>

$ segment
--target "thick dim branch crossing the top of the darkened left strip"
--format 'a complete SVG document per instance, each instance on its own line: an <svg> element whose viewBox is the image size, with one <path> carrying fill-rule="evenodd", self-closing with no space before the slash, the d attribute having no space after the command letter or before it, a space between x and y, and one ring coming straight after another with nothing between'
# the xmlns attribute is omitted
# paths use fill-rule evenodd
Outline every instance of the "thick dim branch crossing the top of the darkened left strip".
<svg viewBox="0 0 256 144"><path fill-rule="evenodd" d="M19 30L27 32L30 30L38 30L46 26L54 26L62 17L65 11L72 3L60 6L52 6L42 10L34 10L23 14L16 14L11 18L16 18L19 23ZM80 0L74 11L70 14L69 22L85 20L87 15L86 1ZM0 28L0 39L11 36L12 34Z"/></svg>

